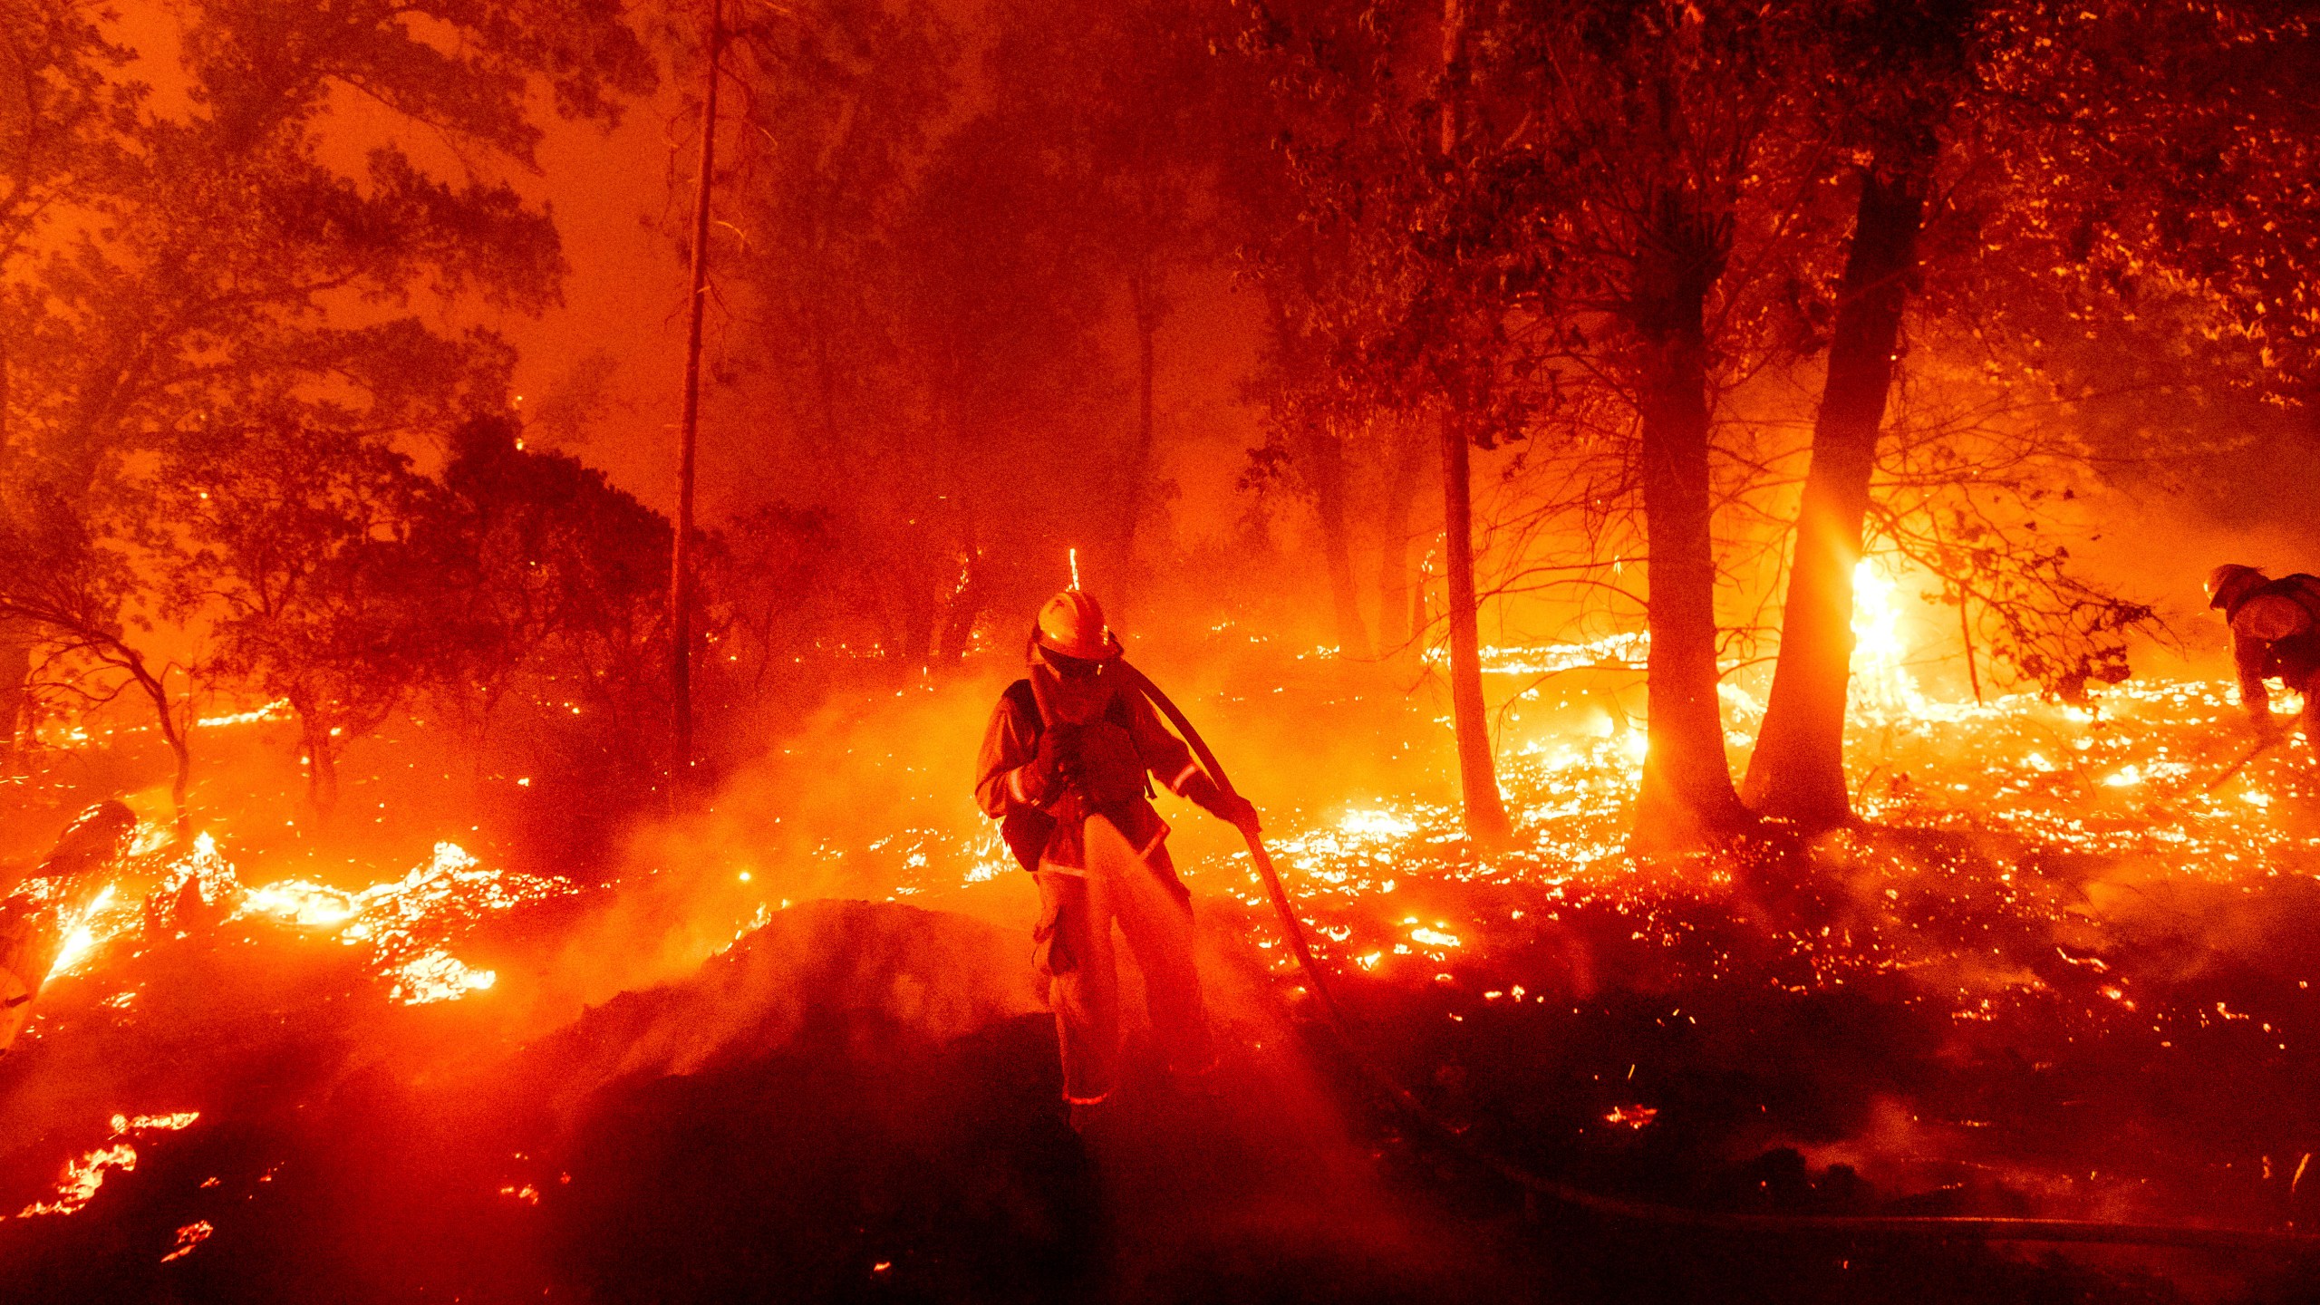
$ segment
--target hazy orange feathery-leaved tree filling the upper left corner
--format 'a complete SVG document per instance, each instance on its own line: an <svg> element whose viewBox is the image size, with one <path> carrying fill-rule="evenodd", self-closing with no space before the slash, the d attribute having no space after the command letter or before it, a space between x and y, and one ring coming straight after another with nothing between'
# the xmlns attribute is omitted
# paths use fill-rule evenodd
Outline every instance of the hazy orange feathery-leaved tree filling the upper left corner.
<svg viewBox="0 0 2320 1305"><path fill-rule="evenodd" d="M128 657L139 604L158 606L139 578L167 571L155 557L176 546L153 469L223 430L448 427L503 353L394 311L413 295L536 309L561 272L548 216L476 167L531 167L534 88L608 116L652 70L617 7L594 0L200 0L181 14L186 109L165 114L123 79L130 56L97 39L88 7L19 0L7 16L23 95L0 121L16 165L0 195L0 476L21 490L12 509L77 520L74 555L90 560L39 576L88 581L70 601L12 601L74 615L39 625L44 639L102 634ZM469 176L434 176L397 144L339 172L316 130L334 93L471 151ZM174 708L158 708L181 745Z"/></svg>

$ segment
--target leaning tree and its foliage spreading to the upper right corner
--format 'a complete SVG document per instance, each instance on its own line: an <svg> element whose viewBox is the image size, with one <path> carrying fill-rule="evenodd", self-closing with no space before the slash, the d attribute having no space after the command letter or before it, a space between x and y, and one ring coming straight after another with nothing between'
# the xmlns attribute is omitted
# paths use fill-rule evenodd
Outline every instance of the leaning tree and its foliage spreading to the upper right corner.
<svg viewBox="0 0 2320 1305"><path fill-rule="evenodd" d="M1837 93L1858 207L1747 783L1752 806L1807 829L1851 817L1842 736L1863 520L1940 576L1970 657L1986 641L2072 699L2125 678L2125 634L2153 613L2069 571L2056 509L2102 481L2097 460L2202 455L2181 439L2185 404L2232 390L2304 399L2299 272L2320 258L2308 146L2290 125L2315 107L2297 74L2315 58L2299 16L1928 2L1854 19ZM1921 253L1930 293L1914 295ZM1882 446L1905 309L1930 411L1902 413ZM2083 427L2116 406L2107 395L2137 390L2167 395L2165 434L2104 455ZM2002 416L2016 392L2042 416Z"/></svg>

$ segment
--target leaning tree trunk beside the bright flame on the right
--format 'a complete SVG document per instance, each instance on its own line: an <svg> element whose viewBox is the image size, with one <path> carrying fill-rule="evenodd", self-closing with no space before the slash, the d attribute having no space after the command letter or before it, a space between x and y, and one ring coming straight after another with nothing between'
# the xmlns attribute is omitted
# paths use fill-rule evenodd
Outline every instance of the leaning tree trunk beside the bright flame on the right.
<svg viewBox="0 0 2320 1305"><path fill-rule="evenodd" d="M1779 664L1747 771L1747 803L1805 831L1851 820L1844 699L1854 655L1854 569L1877 469L1877 427L1916 265L1923 195L1914 167L1861 176L1812 467L1796 513L1796 562L1779 615Z"/></svg>

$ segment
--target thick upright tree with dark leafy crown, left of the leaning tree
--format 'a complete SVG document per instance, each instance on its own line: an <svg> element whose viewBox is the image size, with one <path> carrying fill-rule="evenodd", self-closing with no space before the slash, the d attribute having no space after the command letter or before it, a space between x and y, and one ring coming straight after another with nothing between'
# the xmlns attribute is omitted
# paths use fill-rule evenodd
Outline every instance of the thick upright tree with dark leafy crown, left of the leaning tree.
<svg viewBox="0 0 2320 1305"><path fill-rule="evenodd" d="M1719 708L1719 378L1754 362L1763 269L1793 258L1819 179L1798 102L1817 77L1803 9L1568 5L1492 33L1476 70L1476 223L1510 258L1531 374L1610 385L1633 411L1650 574L1650 752L1638 848L1749 829ZM1784 253L1789 251L1789 253Z"/></svg>

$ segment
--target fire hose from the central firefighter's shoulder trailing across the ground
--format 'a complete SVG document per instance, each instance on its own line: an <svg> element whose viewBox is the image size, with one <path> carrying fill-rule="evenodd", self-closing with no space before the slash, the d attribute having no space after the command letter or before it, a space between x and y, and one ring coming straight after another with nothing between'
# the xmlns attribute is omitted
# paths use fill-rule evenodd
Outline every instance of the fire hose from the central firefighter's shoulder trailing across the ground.
<svg viewBox="0 0 2320 1305"><path fill-rule="evenodd" d="M1209 743L1199 736L1199 729L1186 720L1183 711L1158 685L1151 683L1141 671L1130 666L1125 659L1116 662L1121 676L1130 687L1141 692L1151 704L1176 727L1176 734L1192 748L1199 757L1209 778L1227 796L1234 794L1232 780L1225 778L1225 766L1209 750ZM2250 755L2253 759L2253 755ZM1457 1152L1466 1161L1494 1173L1503 1182L1524 1191L1527 1201L1547 1201L1554 1205L1585 1210L1589 1214L1601 1214L1608 1219L1619 1219L1629 1224L1656 1224L1677 1228L1701 1228L1714 1233L1779 1233L1779 1235L1830 1235L1830 1238L1893 1238L1893 1240L1928 1240L1928 1242L2086 1242L2086 1245L2125 1245L2125 1247L2181 1247L2181 1249L2269 1249L2269 1252L2320 1252L2320 1233L2299 1233L2281 1228L2209 1228L2190 1224L2107 1224L2097 1219L2009 1219L2009 1217L1977 1217L1977 1214L1747 1214L1728 1210L1691 1210L1684 1205L1663 1205L1656 1201L1629 1201L1619 1196L1603 1196L1598 1191L1587 1191L1571 1182L1534 1173L1499 1152L1476 1142L1466 1131L1450 1119L1443 1119L1434 1108L1418 1098L1408 1087L1404 1087L1392 1073L1385 1070L1369 1052L1362 1050L1360 1038L1353 1036L1346 1010L1339 1005L1336 994L1329 989L1329 978L1313 959L1313 950L1306 943L1304 922L1297 917L1297 906L1290 901L1288 889L1281 885L1281 873L1274 871L1274 859L1264 850L1264 838L1255 831L1244 829L1241 836L1248 841L1248 857L1257 866L1257 875L1264 880L1264 894L1271 899L1274 910L1281 915L1281 929L1288 936L1290 954L1297 957L1297 966L1304 971L1306 985L1313 992L1315 1003L1336 1038L1346 1057L1362 1070L1378 1091L1383 1091L1401 1112L1413 1119L1427 1135L1431 1135L1443 1147Z"/></svg>

